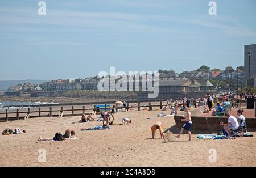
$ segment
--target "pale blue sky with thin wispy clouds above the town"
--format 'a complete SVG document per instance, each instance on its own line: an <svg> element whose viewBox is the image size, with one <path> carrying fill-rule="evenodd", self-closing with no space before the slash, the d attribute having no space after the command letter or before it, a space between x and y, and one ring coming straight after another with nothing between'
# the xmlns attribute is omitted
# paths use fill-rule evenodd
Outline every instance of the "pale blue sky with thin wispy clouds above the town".
<svg viewBox="0 0 256 178"><path fill-rule="evenodd" d="M0 80L85 78L243 65L256 43L256 1L0 1Z"/></svg>

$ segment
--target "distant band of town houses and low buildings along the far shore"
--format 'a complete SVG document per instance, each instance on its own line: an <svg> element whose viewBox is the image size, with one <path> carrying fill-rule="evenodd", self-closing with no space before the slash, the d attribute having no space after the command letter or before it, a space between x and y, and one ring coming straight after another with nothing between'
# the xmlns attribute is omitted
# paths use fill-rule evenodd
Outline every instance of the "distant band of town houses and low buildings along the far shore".
<svg viewBox="0 0 256 178"><path fill-rule="evenodd" d="M241 69L234 70L232 67L226 67L226 70L218 70L218 71L209 71L209 70L193 70L193 71L183 71L178 74L175 71L170 70L159 70L159 86L162 91L191 91L191 92L199 92L199 91L213 91L218 90L220 86L216 84L216 82L223 82L228 87L233 86L236 83L238 87L245 87L243 83L244 80L244 71ZM110 77L110 76L108 76ZM120 77L120 76L119 76ZM115 82L117 82L118 77L116 76ZM127 77L129 78L129 77ZM136 77L133 76L133 79ZM154 77L153 77L154 78ZM110 78L109 78L110 79ZM138 79L138 78L137 78ZM57 79L52 80L51 82L44 82L40 85L35 85L31 83L18 84L16 86L11 86L9 91L69 91L69 90L85 90L85 91L96 91L98 90L98 82L100 79L96 77L84 78L84 79ZM111 81L111 80L110 80ZM133 82L139 82L139 88L142 88L142 84L146 82L142 77L139 78L139 81L133 80ZM185 82L184 82L185 81ZM113 82L113 81L112 81ZM214 84L215 86L214 86ZM180 84L182 83L182 84ZM131 84L131 81L127 81L127 88ZM169 84L169 86L166 86ZM180 86L176 86L175 84L180 84ZM223 85L223 84L222 84ZM133 83L133 91L135 91L135 83ZM154 82L152 83L154 86ZM183 86L183 89L181 89ZM146 86L148 90L149 86ZM223 86L222 86L223 87ZM225 87L225 86L224 86ZM109 87L105 87L106 91L110 91Z"/></svg>

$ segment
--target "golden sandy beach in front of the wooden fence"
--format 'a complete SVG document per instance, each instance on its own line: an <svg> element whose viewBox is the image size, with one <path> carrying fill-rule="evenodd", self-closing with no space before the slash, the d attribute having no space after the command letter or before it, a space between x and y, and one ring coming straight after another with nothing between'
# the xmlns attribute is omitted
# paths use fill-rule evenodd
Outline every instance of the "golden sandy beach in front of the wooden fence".
<svg viewBox="0 0 256 178"><path fill-rule="evenodd" d="M187 142L188 135L183 134L180 139L164 142L159 132L156 139L151 139L151 126L156 121L163 122L165 132L177 130L174 117L156 117L159 112L159 108L155 108L154 111L115 113L110 129L93 131L80 128L102 122L77 123L79 116L1 122L1 132L19 127L27 133L0 136L0 166L256 166L256 132L252 132L254 137L206 141L193 134L191 142ZM130 125L120 125L125 117L131 118ZM37 141L39 136L52 138L56 132L64 134L66 129L75 130L78 139ZM46 150L45 163L38 161L39 149ZM214 163L209 162L210 149L217 151Z"/></svg>

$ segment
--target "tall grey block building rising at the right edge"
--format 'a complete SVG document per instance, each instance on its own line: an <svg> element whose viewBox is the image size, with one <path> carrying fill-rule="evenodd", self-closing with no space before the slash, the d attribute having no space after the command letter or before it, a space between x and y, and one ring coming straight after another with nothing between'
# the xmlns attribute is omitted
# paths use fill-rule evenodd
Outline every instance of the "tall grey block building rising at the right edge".
<svg viewBox="0 0 256 178"><path fill-rule="evenodd" d="M245 83L249 86L249 56L251 52L251 87L256 87L256 44L245 45Z"/></svg>

